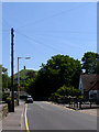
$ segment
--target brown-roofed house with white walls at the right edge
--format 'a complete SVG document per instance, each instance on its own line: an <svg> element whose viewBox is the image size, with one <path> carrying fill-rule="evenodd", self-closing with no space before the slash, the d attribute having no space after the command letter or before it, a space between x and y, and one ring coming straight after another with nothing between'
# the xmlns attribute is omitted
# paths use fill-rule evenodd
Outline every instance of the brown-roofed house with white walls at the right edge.
<svg viewBox="0 0 99 132"><path fill-rule="evenodd" d="M84 74L79 78L79 89L87 99L99 98L99 75Z"/></svg>

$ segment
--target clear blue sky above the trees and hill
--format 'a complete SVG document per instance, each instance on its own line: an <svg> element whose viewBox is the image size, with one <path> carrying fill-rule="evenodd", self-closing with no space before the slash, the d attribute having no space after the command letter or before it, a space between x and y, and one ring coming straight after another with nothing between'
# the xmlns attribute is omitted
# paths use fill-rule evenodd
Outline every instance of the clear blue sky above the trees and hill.
<svg viewBox="0 0 99 132"><path fill-rule="evenodd" d="M2 65L11 75L11 28L14 29L14 73L38 70L54 55L81 61L97 52L97 2L3 2Z"/></svg>

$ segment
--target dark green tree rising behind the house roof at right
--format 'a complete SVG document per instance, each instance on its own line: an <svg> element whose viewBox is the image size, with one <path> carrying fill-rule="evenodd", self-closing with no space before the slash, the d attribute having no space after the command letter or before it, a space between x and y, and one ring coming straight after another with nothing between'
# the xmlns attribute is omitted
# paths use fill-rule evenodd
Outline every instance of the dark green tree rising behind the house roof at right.
<svg viewBox="0 0 99 132"><path fill-rule="evenodd" d="M97 59L99 59L99 54L94 52L87 52L84 54L82 69L85 74L96 74L97 73Z"/></svg>

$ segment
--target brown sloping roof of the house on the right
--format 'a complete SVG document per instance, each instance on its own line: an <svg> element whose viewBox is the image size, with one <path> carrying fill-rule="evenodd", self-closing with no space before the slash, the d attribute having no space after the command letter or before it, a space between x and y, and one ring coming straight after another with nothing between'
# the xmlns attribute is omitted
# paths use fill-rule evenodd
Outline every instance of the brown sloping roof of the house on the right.
<svg viewBox="0 0 99 132"><path fill-rule="evenodd" d="M88 90L89 88L91 88L91 86L95 84L96 81L96 74L85 74L85 75L80 75L81 78L81 82L82 82L82 87L84 90Z"/></svg>

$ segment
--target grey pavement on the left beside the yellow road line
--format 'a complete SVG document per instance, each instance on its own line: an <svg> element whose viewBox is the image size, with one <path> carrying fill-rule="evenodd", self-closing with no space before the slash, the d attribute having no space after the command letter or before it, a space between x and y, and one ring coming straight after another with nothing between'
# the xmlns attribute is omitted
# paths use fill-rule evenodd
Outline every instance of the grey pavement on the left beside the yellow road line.
<svg viewBox="0 0 99 132"><path fill-rule="evenodd" d="M20 101L20 106L14 108L14 112L10 112L8 117L2 120L2 130L25 130L23 113L24 102Z"/></svg>

